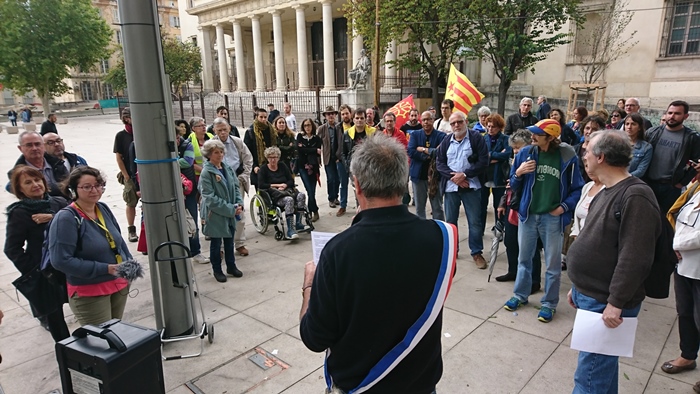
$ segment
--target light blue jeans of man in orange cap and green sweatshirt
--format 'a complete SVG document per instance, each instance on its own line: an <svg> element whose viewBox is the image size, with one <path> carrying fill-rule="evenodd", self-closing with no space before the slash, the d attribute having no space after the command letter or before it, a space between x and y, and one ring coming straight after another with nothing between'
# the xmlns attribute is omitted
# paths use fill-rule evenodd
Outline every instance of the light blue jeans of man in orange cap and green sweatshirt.
<svg viewBox="0 0 700 394"><path fill-rule="evenodd" d="M547 269L544 275L542 306L557 308L561 285L561 246L564 239L561 219L561 216L548 213L530 214L526 221L518 224L520 253L513 293L520 301L526 301L532 291L532 258L535 256L539 237L544 245L544 262Z"/></svg>

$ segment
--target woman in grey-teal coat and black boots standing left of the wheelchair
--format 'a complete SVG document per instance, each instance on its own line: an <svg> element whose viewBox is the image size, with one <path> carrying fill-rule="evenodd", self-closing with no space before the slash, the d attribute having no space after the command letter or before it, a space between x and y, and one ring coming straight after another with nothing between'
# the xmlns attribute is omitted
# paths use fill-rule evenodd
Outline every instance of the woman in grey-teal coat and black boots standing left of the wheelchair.
<svg viewBox="0 0 700 394"><path fill-rule="evenodd" d="M202 232L211 238L209 259L214 278L226 282L221 269L221 243L224 244L226 273L240 278L243 273L236 267L233 254L233 236L236 233L237 216L243 212L241 185L234 170L224 161L225 146L219 140L209 140L202 146L207 159L199 177L199 192L202 194Z"/></svg>

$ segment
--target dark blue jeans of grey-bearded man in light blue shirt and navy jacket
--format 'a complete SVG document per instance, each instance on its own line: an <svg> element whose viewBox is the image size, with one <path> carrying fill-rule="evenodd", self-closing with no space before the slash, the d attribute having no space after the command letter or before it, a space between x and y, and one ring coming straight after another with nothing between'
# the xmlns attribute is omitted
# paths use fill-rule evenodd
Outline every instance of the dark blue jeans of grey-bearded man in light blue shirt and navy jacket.
<svg viewBox="0 0 700 394"><path fill-rule="evenodd" d="M459 205L464 205L469 224L469 250L471 255L481 254L484 250L484 234L481 232L481 191L462 190L445 193L445 215L447 223L457 226Z"/></svg>

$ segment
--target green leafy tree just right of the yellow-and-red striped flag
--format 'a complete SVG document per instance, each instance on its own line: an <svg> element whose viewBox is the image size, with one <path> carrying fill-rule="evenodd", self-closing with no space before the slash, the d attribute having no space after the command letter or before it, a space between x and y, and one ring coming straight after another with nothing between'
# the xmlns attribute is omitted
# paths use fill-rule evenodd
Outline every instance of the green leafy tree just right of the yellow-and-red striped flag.
<svg viewBox="0 0 700 394"><path fill-rule="evenodd" d="M469 56L488 59L500 80L498 113L519 73L533 66L557 46L571 42L562 31L567 22L580 24L580 0L472 0L468 6ZM546 64L540 67L546 68Z"/></svg>

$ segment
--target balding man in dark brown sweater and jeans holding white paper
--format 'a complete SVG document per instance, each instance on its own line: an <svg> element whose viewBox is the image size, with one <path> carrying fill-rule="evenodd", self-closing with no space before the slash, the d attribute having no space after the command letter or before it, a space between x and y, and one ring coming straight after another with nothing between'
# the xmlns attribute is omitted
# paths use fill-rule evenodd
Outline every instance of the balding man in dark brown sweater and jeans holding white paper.
<svg viewBox="0 0 700 394"><path fill-rule="evenodd" d="M654 193L627 172L631 150L629 138L621 131L591 135L583 160L588 173L605 188L591 202L586 226L567 257L572 283L569 304L602 313L609 329L639 314L644 280L661 234ZM580 351L574 383L577 394L617 392L618 356Z"/></svg>

